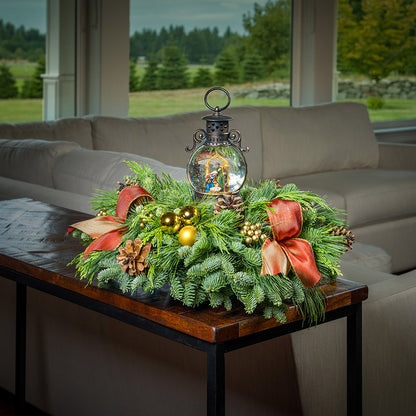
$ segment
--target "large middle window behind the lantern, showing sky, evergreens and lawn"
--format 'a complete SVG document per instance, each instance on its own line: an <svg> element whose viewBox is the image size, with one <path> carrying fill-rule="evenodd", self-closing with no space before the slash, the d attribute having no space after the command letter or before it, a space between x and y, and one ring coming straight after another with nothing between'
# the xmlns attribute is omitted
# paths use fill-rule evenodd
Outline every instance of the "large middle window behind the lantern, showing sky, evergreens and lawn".
<svg viewBox="0 0 416 416"><path fill-rule="evenodd" d="M289 105L291 0L130 0L130 36L130 116L200 110L212 86Z"/></svg>

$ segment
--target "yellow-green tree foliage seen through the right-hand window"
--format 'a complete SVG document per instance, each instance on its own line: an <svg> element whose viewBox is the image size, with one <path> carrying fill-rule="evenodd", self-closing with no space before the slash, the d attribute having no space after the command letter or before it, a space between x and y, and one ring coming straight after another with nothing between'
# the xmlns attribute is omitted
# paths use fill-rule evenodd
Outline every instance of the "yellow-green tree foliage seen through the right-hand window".
<svg viewBox="0 0 416 416"><path fill-rule="evenodd" d="M415 2L365 0L357 12L348 0L340 0L338 8L341 68L378 82L392 72L406 73L414 65Z"/></svg>

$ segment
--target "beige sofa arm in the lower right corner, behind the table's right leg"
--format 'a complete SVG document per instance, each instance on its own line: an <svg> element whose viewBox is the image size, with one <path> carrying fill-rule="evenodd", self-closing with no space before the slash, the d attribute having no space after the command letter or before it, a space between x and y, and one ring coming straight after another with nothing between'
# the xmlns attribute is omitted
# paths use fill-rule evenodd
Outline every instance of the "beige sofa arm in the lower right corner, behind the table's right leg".
<svg viewBox="0 0 416 416"><path fill-rule="evenodd" d="M414 413L416 271L394 276L343 262L369 286L363 302L363 414ZM291 334L304 416L347 414L345 321ZM324 375L316 383L317 374Z"/></svg>

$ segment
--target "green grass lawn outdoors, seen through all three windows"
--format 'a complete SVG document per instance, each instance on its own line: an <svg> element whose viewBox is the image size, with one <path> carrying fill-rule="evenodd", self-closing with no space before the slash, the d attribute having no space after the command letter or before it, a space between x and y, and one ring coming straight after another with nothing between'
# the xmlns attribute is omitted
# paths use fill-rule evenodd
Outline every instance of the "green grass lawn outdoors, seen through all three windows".
<svg viewBox="0 0 416 416"><path fill-rule="evenodd" d="M131 93L129 116L157 117L189 111L208 111L204 104L205 92L206 88L193 88L189 90ZM216 101L214 97L208 101L213 106L217 104L221 106L224 105L224 101L221 101L221 99ZM365 103L365 100L354 101ZM240 105L287 106L289 100L232 98L231 107ZM386 99L383 109L370 110L369 114L371 121L416 118L416 100ZM0 100L0 122L17 123L40 120L42 120L42 100Z"/></svg>

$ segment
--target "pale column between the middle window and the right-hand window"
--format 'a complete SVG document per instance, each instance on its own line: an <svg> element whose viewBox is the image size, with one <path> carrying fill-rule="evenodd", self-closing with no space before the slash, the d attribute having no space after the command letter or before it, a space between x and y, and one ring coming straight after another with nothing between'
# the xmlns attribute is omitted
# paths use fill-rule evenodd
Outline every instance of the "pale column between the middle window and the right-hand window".
<svg viewBox="0 0 416 416"><path fill-rule="evenodd" d="M292 105L333 101L337 0L293 0Z"/></svg>

